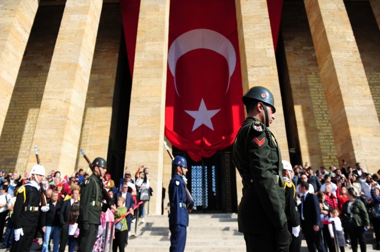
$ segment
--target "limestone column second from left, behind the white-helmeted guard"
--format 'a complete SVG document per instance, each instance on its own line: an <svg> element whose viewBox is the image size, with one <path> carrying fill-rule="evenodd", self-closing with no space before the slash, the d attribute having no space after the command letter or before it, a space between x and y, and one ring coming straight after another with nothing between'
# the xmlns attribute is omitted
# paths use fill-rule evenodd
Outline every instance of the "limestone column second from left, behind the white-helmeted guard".
<svg viewBox="0 0 380 252"><path fill-rule="evenodd" d="M48 171L74 171L102 3L67 0L65 5L33 136ZM34 163L31 150L27 170Z"/></svg>

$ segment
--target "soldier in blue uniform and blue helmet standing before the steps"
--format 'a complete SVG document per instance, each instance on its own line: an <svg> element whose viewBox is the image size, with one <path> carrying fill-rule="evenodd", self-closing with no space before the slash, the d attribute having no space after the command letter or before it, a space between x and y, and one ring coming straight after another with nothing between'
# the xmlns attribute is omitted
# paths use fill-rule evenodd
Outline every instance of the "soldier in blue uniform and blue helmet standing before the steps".
<svg viewBox="0 0 380 252"><path fill-rule="evenodd" d="M184 176L187 173L187 162L184 157L173 159L174 176L169 183L169 229L170 252L183 252L186 245L186 227L188 226L188 211L186 209L186 184Z"/></svg>

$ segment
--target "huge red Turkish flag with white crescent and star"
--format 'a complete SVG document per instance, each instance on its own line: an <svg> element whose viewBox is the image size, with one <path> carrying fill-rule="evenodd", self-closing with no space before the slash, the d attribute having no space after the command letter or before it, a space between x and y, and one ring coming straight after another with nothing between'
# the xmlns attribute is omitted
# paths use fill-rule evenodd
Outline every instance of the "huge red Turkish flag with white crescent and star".
<svg viewBox="0 0 380 252"><path fill-rule="evenodd" d="M234 0L170 2L165 134L194 161L232 145L244 119Z"/></svg>

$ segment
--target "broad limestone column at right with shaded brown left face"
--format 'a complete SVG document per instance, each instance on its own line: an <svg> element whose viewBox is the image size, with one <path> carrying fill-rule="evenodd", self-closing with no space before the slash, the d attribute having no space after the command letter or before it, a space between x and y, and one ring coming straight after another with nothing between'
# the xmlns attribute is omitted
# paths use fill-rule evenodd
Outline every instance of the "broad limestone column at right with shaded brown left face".
<svg viewBox="0 0 380 252"><path fill-rule="evenodd" d="M380 125L343 0L305 0L338 159L375 172Z"/></svg>

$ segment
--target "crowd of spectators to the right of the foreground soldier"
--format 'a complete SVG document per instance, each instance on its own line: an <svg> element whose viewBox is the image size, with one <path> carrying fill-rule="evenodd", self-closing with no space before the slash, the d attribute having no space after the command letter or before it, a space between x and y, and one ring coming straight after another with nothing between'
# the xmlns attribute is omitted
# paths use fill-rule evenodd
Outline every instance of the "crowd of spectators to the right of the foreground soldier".
<svg viewBox="0 0 380 252"><path fill-rule="evenodd" d="M340 168L320 166L315 171L305 163L290 170L309 251L336 251L337 247L345 251L347 245L354 252L358 245L360 251L366 251L365 233L370 223L376 249L380 249L380 170L370 174L362 164L356 163L353 168L345 160Z"/></svg>

